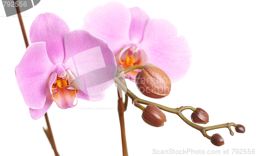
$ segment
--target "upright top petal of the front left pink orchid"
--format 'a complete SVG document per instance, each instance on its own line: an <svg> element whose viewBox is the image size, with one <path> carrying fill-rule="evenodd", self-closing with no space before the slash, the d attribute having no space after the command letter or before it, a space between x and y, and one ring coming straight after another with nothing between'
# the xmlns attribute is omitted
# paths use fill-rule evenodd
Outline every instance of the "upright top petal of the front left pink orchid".
<svg viewBox="0 0 256 156"><path fill-rule="evenodd" d="M69 27L63 19L53 13L38 15L30 27L30 40L46 42L49 59L53 64L62 64L65 57L64 37Z"/></svg>

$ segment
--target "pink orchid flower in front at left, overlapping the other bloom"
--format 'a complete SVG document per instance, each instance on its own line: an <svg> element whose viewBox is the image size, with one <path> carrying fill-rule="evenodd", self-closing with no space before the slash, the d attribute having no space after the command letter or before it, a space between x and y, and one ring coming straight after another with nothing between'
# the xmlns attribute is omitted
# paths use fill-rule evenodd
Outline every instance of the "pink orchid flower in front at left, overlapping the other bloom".
<svg viewBox="0 0 256 156"><path fill-rule="evenodd" d="M77 98L101 100L114 83L116 62L108 44L85 30L70 31L57 15L38 15L30 40L15 73L33 119L44 116L53 101L66 109Z"/></svg>

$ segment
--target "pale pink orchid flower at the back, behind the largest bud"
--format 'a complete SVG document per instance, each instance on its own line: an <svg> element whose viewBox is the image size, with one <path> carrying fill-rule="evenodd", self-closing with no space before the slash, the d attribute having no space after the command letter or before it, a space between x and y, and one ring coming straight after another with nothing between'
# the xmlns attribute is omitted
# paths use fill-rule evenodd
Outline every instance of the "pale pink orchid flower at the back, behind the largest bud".
<svg viewBox="0 0 256 156"><path fill-rule="evenodd" d="M118 2L98 6L84 17L82 29L108 42L123 69L152 63L172 82L189 69L191 52L186 39L177 36L177 29L168 20L151 19L138 7L128 9ZM134 81L138 72L125 77Z"/></svg>

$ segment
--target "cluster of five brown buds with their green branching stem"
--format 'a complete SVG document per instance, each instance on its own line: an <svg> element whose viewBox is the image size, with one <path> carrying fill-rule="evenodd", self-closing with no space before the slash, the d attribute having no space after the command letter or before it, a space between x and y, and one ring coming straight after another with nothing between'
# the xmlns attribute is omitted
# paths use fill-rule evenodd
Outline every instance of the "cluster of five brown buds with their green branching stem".
<svg viewBox="0 0 256 156"><path fill-rule="evenodd" d="M141 69L141 66L139 69ZM153 65L150 63L147 63L146 65L143 66L143 69L141 69L141 71L137 74L135 82L139 91L147 97L163 98L169 95L170 93L171 83L170 83L169 77L163 70L158 68L156 65ZM135 96L134 99L137 99L137 97ZM177 109L174 109L174 108L166 109L166 107L162 105L158 105L158 104L155 105L149 101L144 100L142 103L147 104L145 108L141 106L137 102L137 100L135 100L133 103L135 106L143 110L143 113L142 113L143 121L154 127L161 127L166 122L166 117L161 109L170 113L177 114L184 121L187 119L181 115L181 112L185 109L191 109L193 110L193 113L191 114L191 120L194 123L206 124L209 122L209 115L204 109L199 107L195 109L194 107L190 107L190 106L185 106L185 107L181 106L180 108L177 108ZM186 123L192 127L195 126L194 123L191 123L191 122L186 122ZM234 126L236 131L239 133L245 132L245 127L243 125L240 125L240 124L236 125L234 123L226 123L226 124L220 124L220 125L208 126L208 127L202 127L197 125L196 129L200 130L203 133L203 135L206 138L210 139L210 142L215 146L222 146L224 145L224 139L221 137L221 135L219 135L219 133L215 133L210 137L206 134L206 131L226 127L229 129L230 135L233 136L233 131L231 130L230 126Z"/></svg>

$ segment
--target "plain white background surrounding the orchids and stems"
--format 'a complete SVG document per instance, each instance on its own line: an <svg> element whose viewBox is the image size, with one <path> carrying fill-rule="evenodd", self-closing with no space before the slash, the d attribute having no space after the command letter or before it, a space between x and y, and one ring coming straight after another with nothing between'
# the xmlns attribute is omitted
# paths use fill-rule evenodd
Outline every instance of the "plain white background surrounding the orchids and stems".
<svg viewBox="0 0 256 156"><path fill-rule="evenodd" d="M80 29L82 19L89 10L107 2L42 0L34 8L22 13L28 38L32 21L40 13L55 13L66 21L70 30L75 30ZM225 145L217 147L174 114L165 113L167 122L161 128L145 124L141 119L141 110L134 107L130 100L125 112L129 155L163 155L153 154L153 149L193 149L195 152L220 150L222 154L224 150L231 154L232 149L255 150L254 1L120 2L128 8L140 7L151 18L170 20L177 27L178 34L186 37L193 53L187 75L172 84L168 97L160 100L144 97L136 85L129 81L128 87L132 92L168 107L201 107L210 116L205 126L235 122L246 127L244 134L237 133L232 127L234 136L229 135L227 128L209 131L210 136L220 133L224 138ZM17 15L5 17L2 4L0 28L0 155L54 155L42 130L46 126L45 118L36 121L31 119L19 92L14 68L26 47ZM190 110L185 110L184 114L190 119ZM53 103L48 116L61 156L122 154L114 85L106 91L103 101L79 100L75 108L69 109L60 109Z"/></svg>

